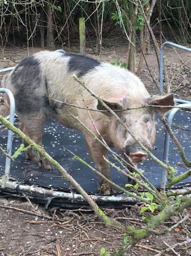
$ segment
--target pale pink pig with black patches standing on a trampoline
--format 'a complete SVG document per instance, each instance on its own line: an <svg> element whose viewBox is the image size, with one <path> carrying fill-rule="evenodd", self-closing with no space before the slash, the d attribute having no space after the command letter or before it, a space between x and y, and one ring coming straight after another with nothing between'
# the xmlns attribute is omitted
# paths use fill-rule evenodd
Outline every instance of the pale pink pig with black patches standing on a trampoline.
<svg viewBox="0 0 191 256"><path fill-rule="evenodd" d="M78 116L98 137L101 134L109 147L114 146L130 156L134 163L145 160L147 154L111 113L100 111L105 110L103 105L74 80L74 73L112 110L133 108L116 113L149 150L155 141L154 114L163 115L169 110L168 106L175 104L173 94L151 97L141 80L128 70L62 51L37 52L22 60L3 79L2 86L10 89L15 97L19 128L23 133L41 145L47 118L81 131L97 170L110 180L109 164L103 158L107 158L107 150L71 114ZM65 103L99 111L88 112ZM156 107L136 109L146 104ZM5 105L9 108L8 98L5 98ZM167 107L157 108L157 105ZM28 150L26 156L46 170L51 169L34 150ZM99 188L104 195L113 192L103 179Z"/></svg>

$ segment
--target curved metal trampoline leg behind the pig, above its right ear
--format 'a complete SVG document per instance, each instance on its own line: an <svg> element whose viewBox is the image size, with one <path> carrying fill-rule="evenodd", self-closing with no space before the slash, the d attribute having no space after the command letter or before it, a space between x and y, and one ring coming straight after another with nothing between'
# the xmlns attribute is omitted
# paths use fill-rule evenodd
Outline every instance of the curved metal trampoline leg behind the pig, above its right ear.
<svg viewBox="0 0 191 256"><path fill-rule="evenodd" d="M160 48L160 68L159 68L159 92L160 94L163 93L163 50L164 46L172 46L184 51L191 52L191 48L185 46L179 46L179 44L171 43L171 42L164 42Z"/></svg>

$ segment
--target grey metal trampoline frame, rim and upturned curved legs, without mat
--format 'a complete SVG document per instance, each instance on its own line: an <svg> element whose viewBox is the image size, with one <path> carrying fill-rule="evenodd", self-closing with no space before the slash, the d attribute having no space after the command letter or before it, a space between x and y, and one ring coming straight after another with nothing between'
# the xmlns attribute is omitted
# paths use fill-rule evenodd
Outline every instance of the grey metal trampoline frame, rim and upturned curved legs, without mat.
<svg viewBox="0 0 191 256"><path fill-rule="evenodd" d="M180 48L184 51L191 52L191 48L179 46L178 44L171 43L171 42L165 42L162 44L162 47L160 48L160 70L159 70L159 92L160 94L163 93L163 51L165 46L172 46L175 48ZM65 52L62 49L56 50L58 52ZM4 68L0 69L0 73L11 71L14 69L14 67L10 68ZM14 96L12 95L11 91L8 89L1 88L0 93L6 93L6 95L10 99L10 122L14 124L14 117L15 117L15 100ZM191 101L184 101L181 99L175 99L177 104L180 104L181 106L184 106L184 108L191 108ZM177 105L177 106L180 106ZM180 110L180 108L173 108L169 114L168 114L168 125L171 126L172 120L175 116L175 114ZM168 163L168 155L169 155L169 142L170 142L170 136L167 131L165 131L165 140L164 140L164 151L163 151L163 162ZM8 139L7 139L7 153L11 155L12 152L12 131L8 131ZM8 188L8 189L18 189L20 191L26 191L29 193L39 193L41 195L46 195L47 199L52 198L61 198L61 199L68 199L74 201L80 201L85 202L86 200L78 193L67 193L67 192L59 192L54 191L53 189L45 189L41 187L35 187L33 185L23 185L18 184L16 181L10 180L10 164L11 159L6 157L6 165L5 165L5 175L2 175L0 177L0 188ZM167 172L165 170L162 171L162 180L160 188L162 190L165 189L165 184L167 183ZM119 194L116 196L102 196L102 195L91 195L92 199L95 201L102 201L102 202L114 202L114 203L139 203L136 199L130 196L126 196L124 194Z"/></svg>

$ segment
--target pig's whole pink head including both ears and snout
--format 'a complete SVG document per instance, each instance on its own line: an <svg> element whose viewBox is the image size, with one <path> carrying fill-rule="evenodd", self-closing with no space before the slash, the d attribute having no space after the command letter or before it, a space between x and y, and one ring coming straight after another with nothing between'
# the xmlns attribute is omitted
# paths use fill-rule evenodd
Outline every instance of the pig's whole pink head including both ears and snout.
<svg viewBox="0 0 191 256"><path fill-rule="evenodd" d="M142 144L149 150L152 149L152 145L155 141L155 112L160 115L165 114L170 108L160 108L157 106L173 106L173 94L167 94L164 96L153 97L123 97L123 98L111 98L111 100L105 101L105 104L112 110L131 110L116 112L118 117L126 124L128 129L134 134ZM155 105L156 107L139 108L142 105ZM133 109L134 108L134 109ZM97 109L105 110L105 108L98 103ZM109 137L118 150L126 153L130 156L134 163L142 162L147 158L147 154L143 151L137 142L131 137L131 135L125 130L125 128L117 121L111 113L106 113L110 118L109 121Z"/></svg>

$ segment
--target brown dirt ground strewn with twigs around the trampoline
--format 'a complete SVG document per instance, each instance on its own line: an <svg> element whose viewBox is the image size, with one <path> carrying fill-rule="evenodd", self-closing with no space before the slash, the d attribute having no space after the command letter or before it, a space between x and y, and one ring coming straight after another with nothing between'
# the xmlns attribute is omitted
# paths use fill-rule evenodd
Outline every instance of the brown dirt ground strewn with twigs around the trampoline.
<svg viewBox="0 0 191 256"><path fill-rule="evenodd" d="M119 38L111 44L104 42L103 54L92 55L88 48L88 56L111 62L125 62L126 43ZM0 68L14 66L28 53L40 51L41 48L7 47L0 55ZM69 49L65 49L69 51ZM73 47L71 52L78 52ZM139 52L137 53L137 61ZM175 92L175 97L191 100L191 55L188 52L165 49L165 91ZM154 52L146 56L147 65L154 80L158 80L157 61ZM150 76L146 64L143 64L141 79L149 92L157 93L156 85ZM1 77L0 77L1 79ZM2 103L2 101L1 101ZM7 114L0 105L1 114ZM105 212L124 224L143 226L138 205L122 210L105 210ZM48 212L41 205L31 203L25 197L9 197L0 193L0 255L100 255L101 247L111 253L123 245L122 234L116 229L107 228L94 213L87 210L57 209ZM175 224L182 216L173 217L160 229ZM191 255L191 222L186 221L179 229L163 236L151 235L142 240L125 255ZM172 246L175 245L173 248ZM145 246L145 247L144 247ZM162 254L160 254L162 255Z"/></svg>

